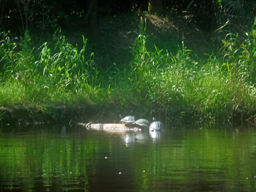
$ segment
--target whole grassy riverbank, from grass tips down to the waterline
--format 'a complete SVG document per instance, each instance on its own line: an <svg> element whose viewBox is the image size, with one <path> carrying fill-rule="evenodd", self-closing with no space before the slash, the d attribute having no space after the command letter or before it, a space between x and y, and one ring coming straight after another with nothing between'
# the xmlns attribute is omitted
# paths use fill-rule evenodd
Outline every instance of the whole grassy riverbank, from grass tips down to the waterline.
<svg viewBox="0 0 256 192"><path fill-rule="evenodd" d="M20 42L2 32L0 122L111 123L120 113L163 122L243 122L256 114L254 24L241 36L227 32L218 39L221 47L210 41L208 52L199 54L164 30L156 41L149 34L158 29L147 25L152 18L138 16L134 43L113 63L91 52L84 35L73 46L59 30L36 46L29 32Z"/></svg>

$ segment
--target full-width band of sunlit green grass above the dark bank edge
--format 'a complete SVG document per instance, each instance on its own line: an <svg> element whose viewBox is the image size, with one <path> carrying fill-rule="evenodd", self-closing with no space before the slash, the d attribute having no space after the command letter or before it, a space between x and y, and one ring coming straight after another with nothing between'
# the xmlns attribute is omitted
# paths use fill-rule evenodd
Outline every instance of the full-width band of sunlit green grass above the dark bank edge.
<svg viewBox="0 0 256 192"><path fill-rule="evenodd" d="M196 121L254 115L254 25L242 42L228 32L223 47L207 53L208 59L192 54L184 44L176 53L148 45L145 23L139 27L132 61L108 69L97 67L86 39L79 50L56 32L51 43L34 47L28 31L20 43L1 32L0 105L86 103L110 105L113 113L129 108L138 116L189 112Z"/></svg>

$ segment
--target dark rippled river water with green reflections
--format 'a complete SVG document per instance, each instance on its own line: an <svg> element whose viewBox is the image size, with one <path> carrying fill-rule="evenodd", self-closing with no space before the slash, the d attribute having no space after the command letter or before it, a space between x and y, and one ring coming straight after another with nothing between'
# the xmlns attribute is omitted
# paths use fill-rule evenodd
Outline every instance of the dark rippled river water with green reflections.
<svg viewBox="0 0 256 192"><path fill-rule="evenodd" d="M256 192L256 128L0 127L1 192Z"/></svg>

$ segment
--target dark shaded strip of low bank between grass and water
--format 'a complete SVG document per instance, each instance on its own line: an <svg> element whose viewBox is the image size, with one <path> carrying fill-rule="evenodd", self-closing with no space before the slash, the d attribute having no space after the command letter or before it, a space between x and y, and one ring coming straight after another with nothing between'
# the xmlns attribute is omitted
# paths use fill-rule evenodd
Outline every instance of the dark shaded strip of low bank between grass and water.
<svg viewBox="0 0 256 192"><path fill-rule="evenodd" d="M146 118L152 122L152 117L157 117L165 124L178 124L178 125L189 125L194 123L234 123L241 124L249 122L255 124L256 111L223 111L219 116L213 116L210 113L200 113L193 111L189 108L172 108L172 111L156 112L150 111L140 116L140 111L135 108L124 108L119 109L119 106L108 105L76 105L76 106L65 106L65 105L48 105L42 108L36 105L13 105L8 107L0 107L0 125L44 125L44 124L73 124L87 123L87 122L99 122L99 123L115 123L119 122L119 114L129 115L134 114L139 118ZM168 125L167 125L168 126Z"/></svg>

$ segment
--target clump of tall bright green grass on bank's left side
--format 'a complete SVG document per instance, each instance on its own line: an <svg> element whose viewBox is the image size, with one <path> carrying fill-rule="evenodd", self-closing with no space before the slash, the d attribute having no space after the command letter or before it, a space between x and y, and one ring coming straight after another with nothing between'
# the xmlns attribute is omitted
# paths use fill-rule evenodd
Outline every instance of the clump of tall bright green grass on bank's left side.
<svg viewBox="0 0 256 192"><path fill-rule="evenodd" d="M57 93L68 94L69 97L81 91L93 94L102 79L98 77L99 70L93 61L93 54L86 55L87 40L84 37L83 40L84 46L80 51L65 42L64 36L56 38L53 45L46 42L36 48L32 47L28 31L21 43L10 40L8 35L2 33L1 81L8 82L6 85L10 88L18 85L19 92L26 94L27 102L48 97L55 101ZM2 89L6 85L2 84ZM13 97L11 101L22 102L20 99ZM58 100L61 101L61 96Z"/></svg>

